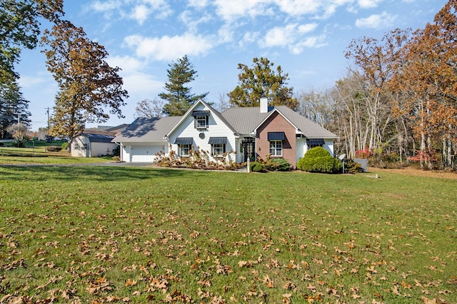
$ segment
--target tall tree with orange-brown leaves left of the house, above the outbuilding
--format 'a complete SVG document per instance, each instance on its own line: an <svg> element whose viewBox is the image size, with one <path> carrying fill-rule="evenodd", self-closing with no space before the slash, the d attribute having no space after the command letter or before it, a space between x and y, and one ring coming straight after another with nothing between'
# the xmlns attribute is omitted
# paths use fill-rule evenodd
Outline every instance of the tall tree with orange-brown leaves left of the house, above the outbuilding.
<svg viewBox="0 0 457 304"><path fill-rule="evenodd" d="M121 106L127 91L118 74L121 69L106 63L104 46L89 40L84 30L70 21L62 21L44 34L41 42L46 66L59 85L49 133L70 140L86 123L107 121L105 108L123 117Z"/></svg>

